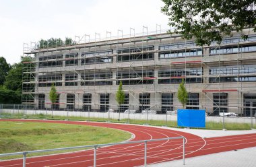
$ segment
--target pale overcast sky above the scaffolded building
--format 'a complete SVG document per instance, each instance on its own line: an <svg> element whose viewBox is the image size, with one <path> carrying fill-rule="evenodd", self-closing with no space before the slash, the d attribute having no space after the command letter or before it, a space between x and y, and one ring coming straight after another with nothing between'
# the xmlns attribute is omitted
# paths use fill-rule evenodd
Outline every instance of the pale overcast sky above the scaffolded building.
<svg viewBox="0 0 256 167"><path fill-rule="evenodd" d="M168 29L161 0L0 0L0 57L20 62L23 44L40 39L90 35L100 38ZM158 26L158 30L160 26ZM119 35L121 32L119 31ZM99 35L96 35L99 38Z"/></svg>

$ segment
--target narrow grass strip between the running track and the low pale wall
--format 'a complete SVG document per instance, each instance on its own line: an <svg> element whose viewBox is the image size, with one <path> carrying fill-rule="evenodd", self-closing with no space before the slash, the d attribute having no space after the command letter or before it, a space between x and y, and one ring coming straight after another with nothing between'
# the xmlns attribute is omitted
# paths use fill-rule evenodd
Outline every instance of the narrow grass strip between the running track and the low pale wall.
<svg viewBox="0 0 256 167"><path fill-rule="evenodd" d="M168 121L157 121L157 120L135 120L135 119L121 119L118 121L117 119L102 119L102 118L86 118L86 117L80 117L80 116L53 116L51 115L44 115L44 114L31 114L31 115L24 115L24 114L9 114L9 113L1 113L2 118L6 119L56 119L56 120L70 120L70 121L96 121L96 122L106 122L110 121L111 123L131 123L131 124L146 124L148 125L154 125L154 126L167 126L167 127L178 127L177 121L171 121L168 119ZM211 129L211 130L220 130L223 129L222 126L222 119L220 118L220 122L214 122L214 121L207 121L205 123L206 127L205 129ZM255 120L253 120L253 128L256 129L256 123ZM250 130L251 124L250 123L225 123L225 129L227 130Z"/></svg>

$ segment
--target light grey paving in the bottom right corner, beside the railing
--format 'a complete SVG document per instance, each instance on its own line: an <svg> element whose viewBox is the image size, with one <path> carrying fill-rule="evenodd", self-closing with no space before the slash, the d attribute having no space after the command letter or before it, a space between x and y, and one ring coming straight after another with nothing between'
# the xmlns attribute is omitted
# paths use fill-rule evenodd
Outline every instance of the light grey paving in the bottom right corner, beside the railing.
<svg viewBox="0 0 256 167"><path fill-rule="evenodd" d="M247 149L238 149L237 151L222 152L217 154L210 154L207 156L197 156L185 159L186 167L236 167L236 166L256 166L256 147ZM160 164L148 165L151 167L177 167L183 166L183 160L175 160L171 162L164 162Z"/></svg>

